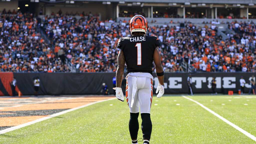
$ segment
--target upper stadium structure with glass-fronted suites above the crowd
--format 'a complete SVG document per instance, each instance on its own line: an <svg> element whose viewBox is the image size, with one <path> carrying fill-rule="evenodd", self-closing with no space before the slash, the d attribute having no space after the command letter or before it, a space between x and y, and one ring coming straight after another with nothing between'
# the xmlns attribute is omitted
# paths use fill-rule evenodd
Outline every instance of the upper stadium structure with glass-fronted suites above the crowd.
<svg viewBox="0 0 256 144"><path fill-rule="evenodd" d="M28 6L25 7L25 4ZM256 1L253 0L2 0L0 11L3 9L17 9L22 12L30 11L43 15L57 13L60 9L63 13L92 13L98 15L101 20L123 19L130 17L129 13L140 12L147 18L153 18L156 22L182 21L211 21L212 19L256 19ZM124 15L122 15L124 14ZM165 19L161 15L165 14ZM169 18L169 19L168 19ZM197 18L197 19L195 19ZM150 19L151 20L151 19Z"/></svg>

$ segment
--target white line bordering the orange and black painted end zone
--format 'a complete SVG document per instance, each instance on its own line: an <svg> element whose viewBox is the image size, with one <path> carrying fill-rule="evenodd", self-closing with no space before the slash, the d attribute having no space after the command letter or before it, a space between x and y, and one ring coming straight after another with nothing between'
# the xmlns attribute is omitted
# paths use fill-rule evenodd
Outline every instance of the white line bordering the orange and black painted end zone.
<svg viewBox="0 0 256 144"><path fill-rule="evenodd" d="M68 113L68 112L72 112L72 111L81 109L83 107L87 107L87 106L90 106L90 105L93 105L93 104L96 104L96 103L100 103L100 102L104 102L104 101L109 101L109 100L113 100L113 99L115 99L115 98L101 100L101 101L97 101L97 102L92 102L92 103L85 104L85 105L82 105L82 106L79 106L79 107L75 107L75 108L72 108L72 109L69 109L69 110L66 110L66 111L55 113L55 114L52 114L52 115L49 115L49 116L46 116L46 117L43 117L43 118L39 118L39 119L36 119L34 121L25 123L25 124L21 124L21 125L17 125L17 126L14 126L14 127L6 128L4 130L0 130L0 135L4 134L4 133L7 133L9 131L13 131L13 130L16 130L16 129L19 129L19 128L22 128L22 127L25 127L25 126L29 126L29 125L32 125L32 124L44 121L44 120L52 118L52 117L56 117L56 116L59 116L59 115L62 115L62 114Z"/></svg>

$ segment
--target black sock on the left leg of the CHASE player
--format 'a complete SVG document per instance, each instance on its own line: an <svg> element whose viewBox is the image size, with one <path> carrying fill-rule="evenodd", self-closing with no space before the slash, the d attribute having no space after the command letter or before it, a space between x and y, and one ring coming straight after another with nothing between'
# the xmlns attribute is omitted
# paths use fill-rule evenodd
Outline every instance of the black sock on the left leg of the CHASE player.
<svg viewBox="0 0 256 144"><path fill-rule="evenodd" d="M129 131L132 139L137 139L139 122L138 122L139 113L130 113L129 121Z"/></svg>

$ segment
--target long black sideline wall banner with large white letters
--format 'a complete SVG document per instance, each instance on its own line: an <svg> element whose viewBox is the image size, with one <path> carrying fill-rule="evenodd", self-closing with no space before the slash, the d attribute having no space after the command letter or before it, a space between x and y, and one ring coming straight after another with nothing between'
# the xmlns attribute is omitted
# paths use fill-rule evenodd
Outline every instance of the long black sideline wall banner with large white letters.
<svg viewBox="0 0 256 144"><path fill-rule="evenodd" d="M227 94L229 90L237 93L240 89L240 78L244 77L245 92L250 89L249 78L255 73L191 73L192 88L194 93L211 93L212 77L216 78L218 93ZM8 76L8 79L6 78ZM65 95L65 94L101 94L102 83L106 83L109 92L114 91L112 78L115 73L0 73L0 95L10 95L11 92L7 86L12 80L12 76L16 77L17 90L20 90L22 95L34 94L33 78L38 76L40 79L40 87L38 94L40 95ZM154 74L154 93L158 85L158 79ZM189 73L165 73L165 94L187 93L187 77ZM6 81L8 80L8 81ZM5 84L6 83L6 86ZM123 89L125 84L122 85ZM123 90L124 92L124 90Z"/></svg>

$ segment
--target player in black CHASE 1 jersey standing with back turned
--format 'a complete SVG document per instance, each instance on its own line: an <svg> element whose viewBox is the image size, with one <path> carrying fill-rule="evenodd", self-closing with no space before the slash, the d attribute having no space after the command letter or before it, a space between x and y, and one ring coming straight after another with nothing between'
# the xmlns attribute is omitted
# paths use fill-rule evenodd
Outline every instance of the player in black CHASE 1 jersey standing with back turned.
<svg viewBox="0 0 256 144"><path fill-rule="evenodd" d="M132 36L121 38L118 42L117 47L120 52L116 71L116 88L113 89L116 92L116 98L124 101L124 95L120 87L124 74L124 64L126 63L125 95L130 108L129 131L132 143L137 143L140 107L143 143L149 144L152 131L150 109L153 99L153 61L159 81L156 89L157 98L164 94L164 71L158 51L160 41L156 36L146 36L148 22L141 15L136 15L130 20L129 29Z"/></svg>

